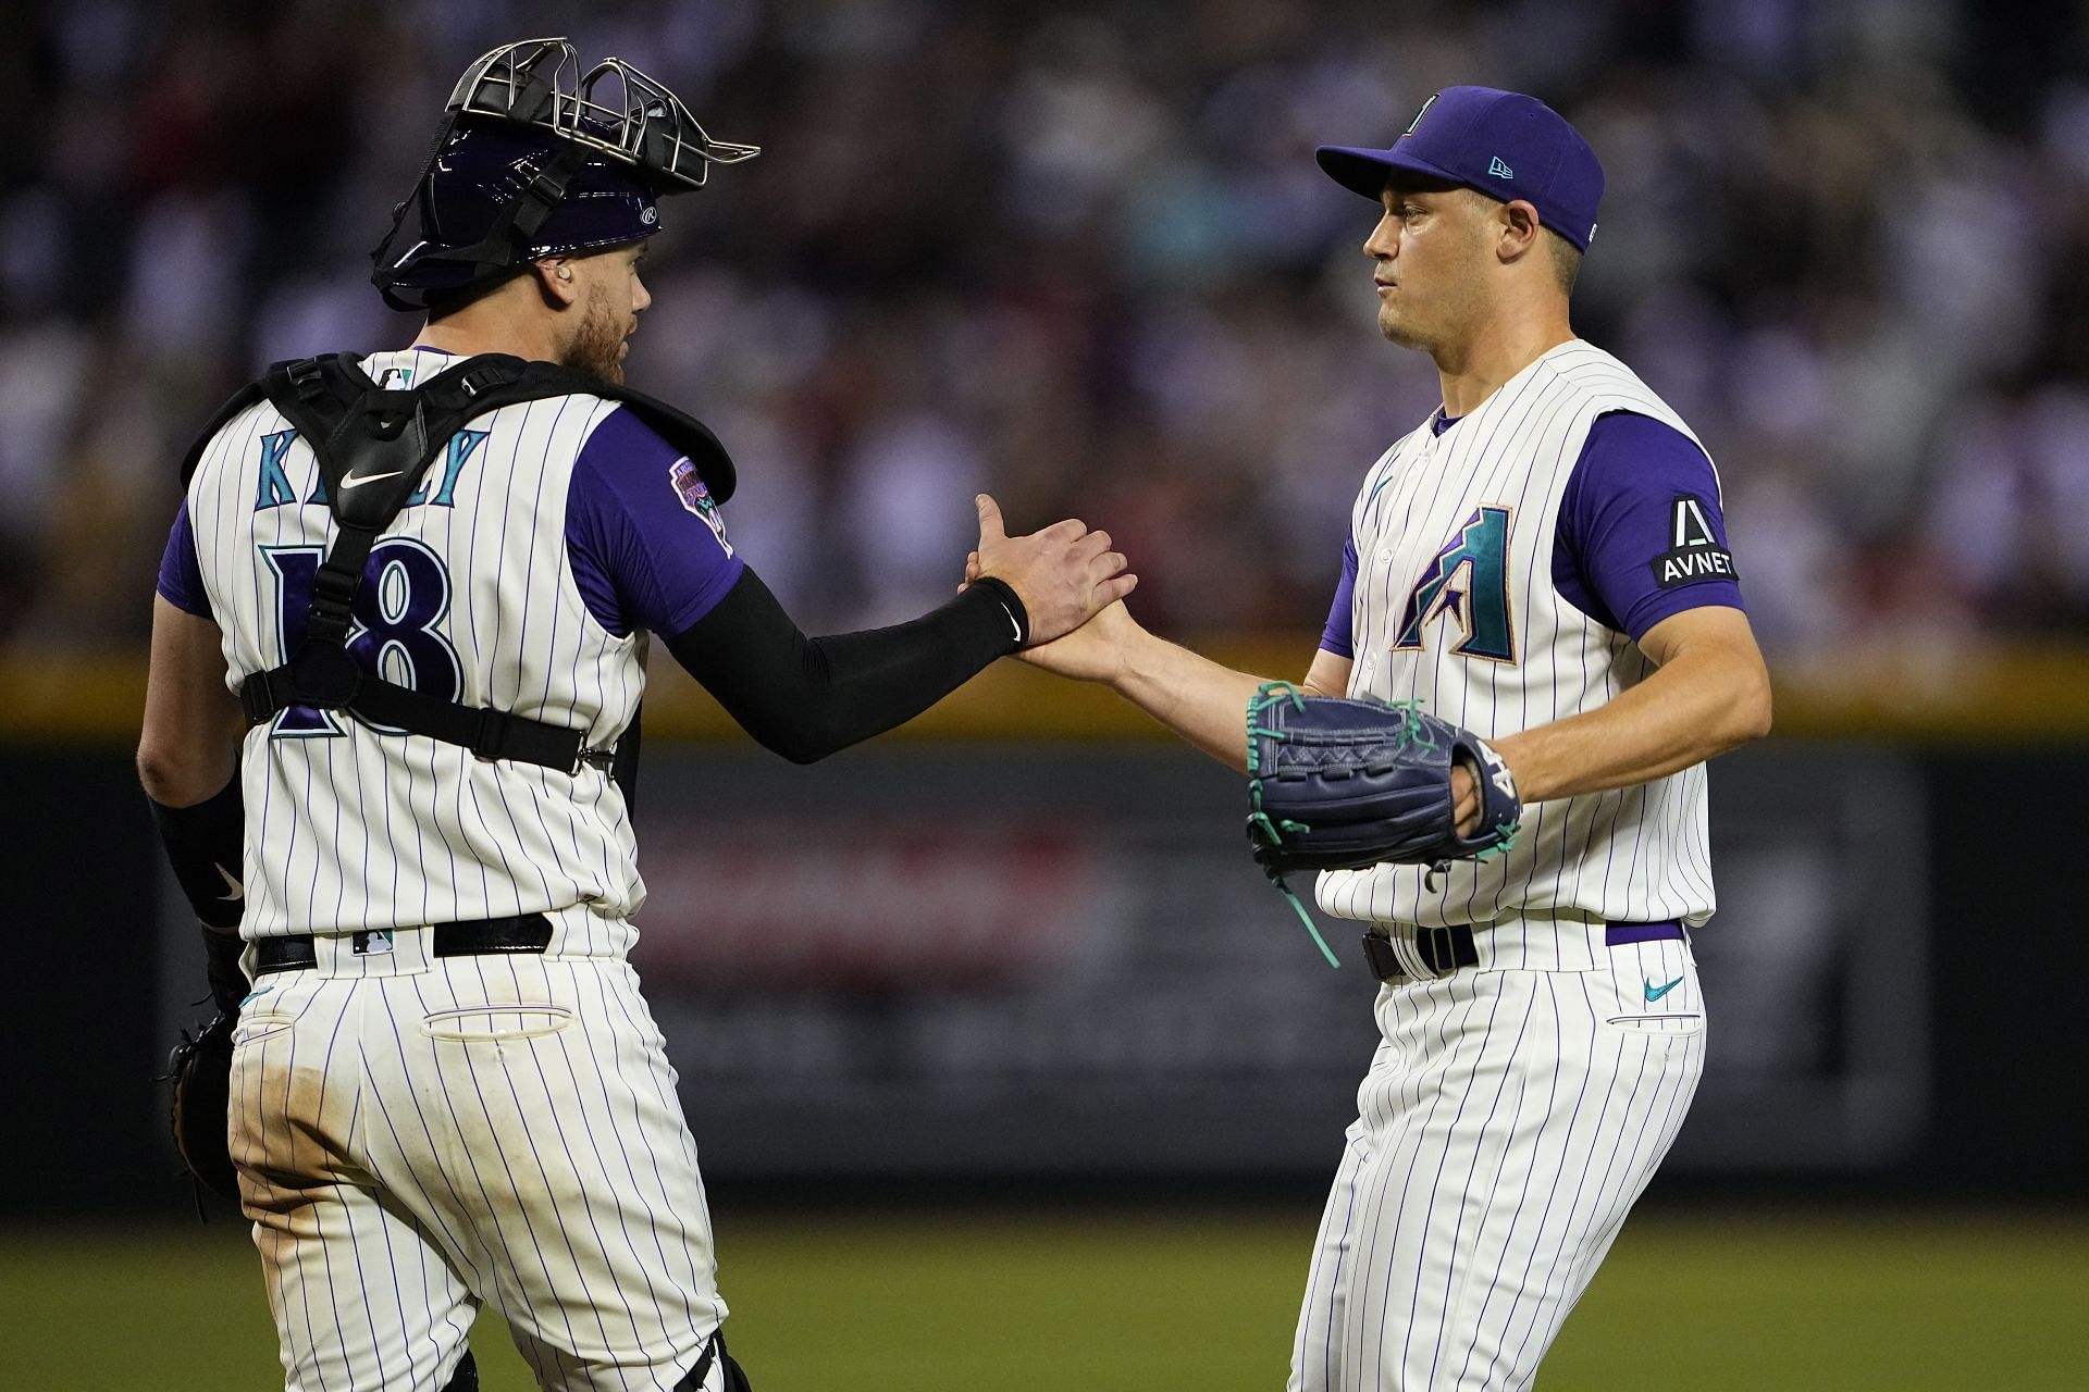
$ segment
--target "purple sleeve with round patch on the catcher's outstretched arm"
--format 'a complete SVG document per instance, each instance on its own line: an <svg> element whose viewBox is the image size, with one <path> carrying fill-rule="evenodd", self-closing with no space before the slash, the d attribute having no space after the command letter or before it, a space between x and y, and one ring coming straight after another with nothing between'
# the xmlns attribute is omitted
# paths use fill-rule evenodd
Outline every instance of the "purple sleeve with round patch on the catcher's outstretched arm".
<svg viewBox="0 0 2089 1392"><path fill-rule="evenodd" d="M618 637L681 637L746 570L696 467L623 407L572 463L566 555L587 611Z"/></svg>

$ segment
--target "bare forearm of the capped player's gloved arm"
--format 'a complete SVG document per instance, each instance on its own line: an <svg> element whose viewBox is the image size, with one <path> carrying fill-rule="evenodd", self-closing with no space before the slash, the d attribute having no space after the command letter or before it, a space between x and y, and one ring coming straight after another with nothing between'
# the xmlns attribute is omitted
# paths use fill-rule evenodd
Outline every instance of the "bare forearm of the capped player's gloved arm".
<svg viewBox="0 0 2089 1392"><path fill-rule="evenodd" d="M1533 803L1665 778L1767 733L1761 662L1692 649L1598 710L1492 743Z"/></svg>

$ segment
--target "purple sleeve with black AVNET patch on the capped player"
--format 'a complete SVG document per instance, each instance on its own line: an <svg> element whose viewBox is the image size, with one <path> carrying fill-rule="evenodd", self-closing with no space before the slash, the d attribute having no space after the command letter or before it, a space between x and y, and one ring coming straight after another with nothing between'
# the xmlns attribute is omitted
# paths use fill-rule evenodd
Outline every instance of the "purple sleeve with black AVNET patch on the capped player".
<svg viewBox="0 0 2089 1392"><path fill-rule="evenodd" d="M1746 607L1705 451L1650 415L1600 417L1560 497L1552 586L1634 641L1684 609Z"/></svg>

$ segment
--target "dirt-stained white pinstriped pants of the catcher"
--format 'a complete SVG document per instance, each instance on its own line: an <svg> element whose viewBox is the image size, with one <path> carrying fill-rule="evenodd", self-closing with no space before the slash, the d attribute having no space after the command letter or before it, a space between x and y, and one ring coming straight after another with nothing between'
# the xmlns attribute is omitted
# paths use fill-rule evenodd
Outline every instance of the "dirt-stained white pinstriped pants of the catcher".
<svg viewBox="0 0 2089 1392"><path fill-rule="evenodd" d="M673 1388L725 1319L664 1041L612 956L263 977L232 1154L292 1392L435 1390L480 1302L543 1388Z"/></svg>

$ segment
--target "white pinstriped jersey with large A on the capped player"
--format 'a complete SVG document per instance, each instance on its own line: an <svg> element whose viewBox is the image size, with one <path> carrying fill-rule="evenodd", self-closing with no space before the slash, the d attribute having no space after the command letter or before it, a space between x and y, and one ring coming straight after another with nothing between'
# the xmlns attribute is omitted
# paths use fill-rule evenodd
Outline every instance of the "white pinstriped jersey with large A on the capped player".
<svg viewBox="0 0 2089 1392"><path fill-rule="evenodd" d="M1416 699L1498 739L1594 710L1646 678L1652 664L1627 634L1552 586L1560 497L1590 426L1611 411L1696 440L1629 367L1569 340L1441 436L1425 422L1379 459L1349 522L1352 697ZM1489 566L1506 578L1506 614L1485 609L1483 597L1500 593ZM1700 925L1713 912L1705 766L1525 806L1515 849L1452 862L1435 883L1423 866L1329 870L1318 899L1345 918L1423 927L1525 912Z"/></svg>

